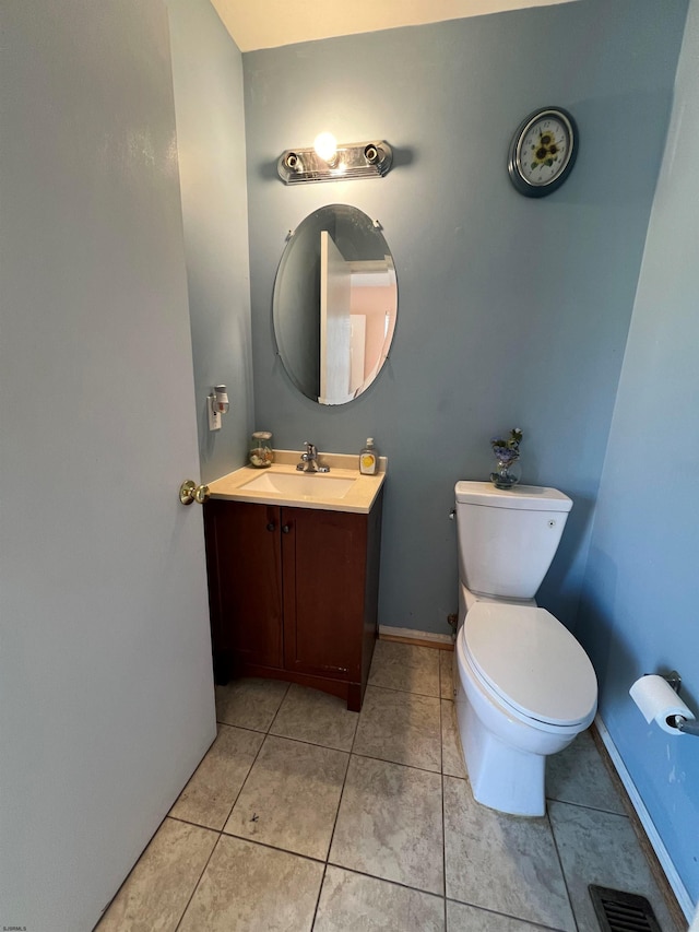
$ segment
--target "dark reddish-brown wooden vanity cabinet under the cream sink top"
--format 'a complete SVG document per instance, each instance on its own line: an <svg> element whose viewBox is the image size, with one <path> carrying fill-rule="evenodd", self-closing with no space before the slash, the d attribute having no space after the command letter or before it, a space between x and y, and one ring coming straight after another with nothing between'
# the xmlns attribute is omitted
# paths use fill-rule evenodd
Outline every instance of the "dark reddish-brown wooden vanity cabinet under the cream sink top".
<svg viewBox="0 0 699 932"><path fill-rule="evenodd" d="M358 711L377 636L382 491L368 515L204 506L217 683L268 676Z"/></svg>

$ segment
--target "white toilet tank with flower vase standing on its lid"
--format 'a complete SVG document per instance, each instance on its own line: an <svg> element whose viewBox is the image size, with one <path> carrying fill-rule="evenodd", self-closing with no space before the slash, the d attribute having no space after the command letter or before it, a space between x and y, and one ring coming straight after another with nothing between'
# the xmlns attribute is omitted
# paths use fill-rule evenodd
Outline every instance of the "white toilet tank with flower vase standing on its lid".
<svg viewBox="0 0 699 932"><path fill-rule="evenodd" d="M484 595L532 599L550 566L572 500L557 488L458 482L461 581Z"/></svg>

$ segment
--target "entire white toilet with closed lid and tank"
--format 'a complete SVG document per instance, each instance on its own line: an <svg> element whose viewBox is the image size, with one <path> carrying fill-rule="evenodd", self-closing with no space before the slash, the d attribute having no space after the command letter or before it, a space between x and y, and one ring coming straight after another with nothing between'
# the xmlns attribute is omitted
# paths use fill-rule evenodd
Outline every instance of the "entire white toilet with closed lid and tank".
<svg viewBox="0 0 699 932"><path fill-rule="evenodd" d="M545 762L592 722L597 681L570 632L534 601L572 502L555 488L458 482L459 733L475 799L543 815Z"/></svg>

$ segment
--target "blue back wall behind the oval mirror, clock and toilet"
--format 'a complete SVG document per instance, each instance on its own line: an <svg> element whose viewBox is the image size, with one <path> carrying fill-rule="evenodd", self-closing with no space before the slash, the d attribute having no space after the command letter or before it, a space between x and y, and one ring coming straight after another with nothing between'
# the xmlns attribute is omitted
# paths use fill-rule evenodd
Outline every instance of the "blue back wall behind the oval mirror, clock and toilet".
<svg viewBox="0 0 699 932"><path fill-rule="evenodd" d="M487 477L489 437L518 425L523 480L576 503L540 593L574 626L686 5L580 0L244 55L256 427L288 448L370 435L389 457L383 625L448 630L453 484ZM576 116L580 156L559 191L525 199L508 145L552 104ZM394 169L284 187L280 153L321 129L386 138ZM322 408L274 355L271 299L287 231L334 202L382 223L400 302L378 380Z"/></svg>

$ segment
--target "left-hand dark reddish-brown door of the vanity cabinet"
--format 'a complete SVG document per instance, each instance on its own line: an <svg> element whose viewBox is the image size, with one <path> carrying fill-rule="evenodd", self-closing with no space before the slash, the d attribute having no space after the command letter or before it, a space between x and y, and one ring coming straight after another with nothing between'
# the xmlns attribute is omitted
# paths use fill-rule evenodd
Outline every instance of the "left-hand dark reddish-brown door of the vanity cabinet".
<svg viewBox="0 0 699 932"><path fill-rule="evenodd" d="M205 506L214 653L282 666L280 508Z"/></svg>

